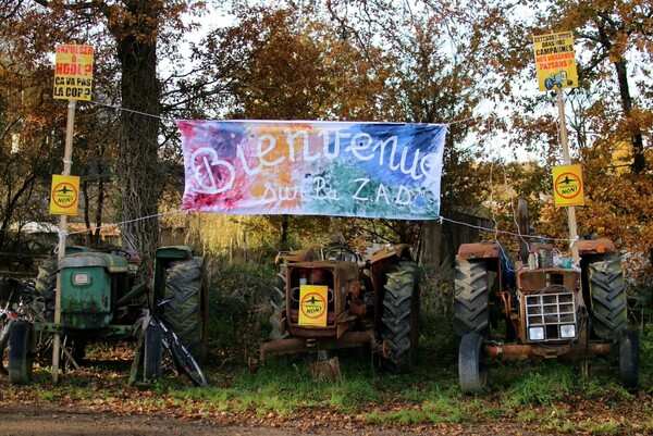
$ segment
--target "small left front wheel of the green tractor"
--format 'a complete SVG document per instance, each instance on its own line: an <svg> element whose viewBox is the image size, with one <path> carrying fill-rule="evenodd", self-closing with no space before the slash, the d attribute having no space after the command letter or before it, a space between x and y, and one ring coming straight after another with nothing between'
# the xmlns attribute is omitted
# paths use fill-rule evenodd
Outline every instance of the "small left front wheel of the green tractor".
<svg viewBox="0 0 653 436"><path fill-rule="evenodd" d="M32 350L32 323L16 320L9 336L9 382L28 385L32 382L34 353Z"/></svg>

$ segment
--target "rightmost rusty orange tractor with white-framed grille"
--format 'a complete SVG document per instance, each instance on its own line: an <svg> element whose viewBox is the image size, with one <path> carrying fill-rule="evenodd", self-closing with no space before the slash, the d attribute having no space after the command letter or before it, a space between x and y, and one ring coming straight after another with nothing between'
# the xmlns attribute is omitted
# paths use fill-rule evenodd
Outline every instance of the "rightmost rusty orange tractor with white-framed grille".
<svg viewBox="0 0 653 436"><path fill-rule="evenodd" d="M579 240L580 263L567 259L558 264L553 246L529 242L523 200L518 221L521 262L515 265L496 241L458 250L455 325L461 390L483 389L491 358L575 359L587 370L589 360L602 356L618 361L626 388L637 388L639 336L627 329L624 272L614 244Z"/></svg>

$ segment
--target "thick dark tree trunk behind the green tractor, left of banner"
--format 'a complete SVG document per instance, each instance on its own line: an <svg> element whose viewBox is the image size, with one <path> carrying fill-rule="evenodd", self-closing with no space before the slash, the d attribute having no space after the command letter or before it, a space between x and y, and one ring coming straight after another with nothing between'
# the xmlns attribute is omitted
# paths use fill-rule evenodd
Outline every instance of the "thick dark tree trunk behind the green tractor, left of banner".
<svg viewBox="0 0 653 436"><path fill-rule="evenodd" d="M159 115L161 87L157 77L158 16L145 0L126 1L135 20L112 29L122 66L122 107L118 175L121 183L124 248L136 250L145 272L151 270L159 245Z"/></svg>

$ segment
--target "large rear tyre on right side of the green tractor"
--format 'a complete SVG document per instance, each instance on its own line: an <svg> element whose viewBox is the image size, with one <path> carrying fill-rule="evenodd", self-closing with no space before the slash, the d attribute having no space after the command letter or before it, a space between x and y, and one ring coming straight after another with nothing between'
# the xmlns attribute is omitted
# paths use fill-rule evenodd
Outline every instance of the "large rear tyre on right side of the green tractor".
<svg viewBox="0 0 653 436"><path fill-rule="evenodd" d="M198 361L208 354L208 284L204 259L194 257L170 262L165 270L165 292L170 300L163 320Z"/></svg>

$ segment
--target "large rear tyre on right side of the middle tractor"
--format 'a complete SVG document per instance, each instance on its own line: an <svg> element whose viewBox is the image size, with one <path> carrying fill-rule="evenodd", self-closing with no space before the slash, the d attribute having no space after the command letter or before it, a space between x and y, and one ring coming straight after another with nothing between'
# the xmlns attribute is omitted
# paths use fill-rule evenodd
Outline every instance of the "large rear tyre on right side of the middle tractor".
<svg viewBox="0 0 653 436"><path fill-rule="evenodd" d="M417 265L402 262L387 273L381 338L384 344L383 363L397 373L412 370L417 357L417 328L419 313L415 310L419 299Z"/></svg>

